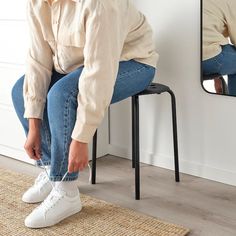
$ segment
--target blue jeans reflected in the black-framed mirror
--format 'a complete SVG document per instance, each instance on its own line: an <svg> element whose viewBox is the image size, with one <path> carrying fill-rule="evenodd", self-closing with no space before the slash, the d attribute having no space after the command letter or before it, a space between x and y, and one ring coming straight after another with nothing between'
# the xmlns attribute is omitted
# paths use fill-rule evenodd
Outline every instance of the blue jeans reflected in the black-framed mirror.
<svg viewBox="0 0 236 236"><path fill-rule="evenodd" d="M202 62L203 74L228 75L229 94L236 96L236 47L231 44L221 47L220 54Z"/></svg>

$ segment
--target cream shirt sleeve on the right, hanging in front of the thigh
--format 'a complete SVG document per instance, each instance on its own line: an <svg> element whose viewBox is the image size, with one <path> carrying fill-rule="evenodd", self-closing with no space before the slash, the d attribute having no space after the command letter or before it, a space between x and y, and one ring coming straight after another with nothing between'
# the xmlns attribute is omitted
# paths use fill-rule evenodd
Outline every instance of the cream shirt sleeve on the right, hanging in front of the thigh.
<svg viewBox="0 0 236 236"><path fill-rule="evenodd" d="M90 1L85 16L84 68L78 84L77 117L71 137L89 143L104 118L114 91L122 51L117 9Z"/></svg>

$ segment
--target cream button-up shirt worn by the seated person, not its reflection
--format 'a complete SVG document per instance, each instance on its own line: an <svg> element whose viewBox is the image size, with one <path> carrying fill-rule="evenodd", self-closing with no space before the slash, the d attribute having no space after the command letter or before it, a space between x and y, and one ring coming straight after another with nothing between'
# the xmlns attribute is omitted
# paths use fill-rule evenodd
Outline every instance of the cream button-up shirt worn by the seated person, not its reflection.
<svg viewBox="0 0 236 236"><path fill-rule="evenodd" d="M43 119L52 68L67 74L84 65L71 137L89 142L108 108L119 61L156 67L146 17L130 0L28 0L30 48L24 80L25 118Z"/></svg>

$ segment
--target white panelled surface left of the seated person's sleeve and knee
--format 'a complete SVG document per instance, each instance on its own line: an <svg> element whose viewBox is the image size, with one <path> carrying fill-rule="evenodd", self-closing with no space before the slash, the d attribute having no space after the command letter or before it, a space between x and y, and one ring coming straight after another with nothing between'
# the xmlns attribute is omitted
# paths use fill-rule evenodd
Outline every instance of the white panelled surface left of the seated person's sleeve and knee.
<svg viewBox="0 0 236 236"><path fill-rule="evenodd" d="M0 154L33 163L24 153L24 132L11 101L11 88L24 74L28 40L25 3L25 0L0 3Z"/></svg>

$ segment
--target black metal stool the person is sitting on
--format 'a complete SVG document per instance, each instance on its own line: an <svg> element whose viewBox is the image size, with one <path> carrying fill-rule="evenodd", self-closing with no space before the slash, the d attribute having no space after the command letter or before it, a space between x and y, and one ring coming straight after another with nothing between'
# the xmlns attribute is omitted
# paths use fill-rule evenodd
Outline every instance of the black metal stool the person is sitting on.
<svg viewBox="0 0 236 236"><path fill-rule="evenodd" d="M164 92L168 92L171 95L175 181L176 182L180 181L175 95L168 86L159 84L159 83L151 83L147 89L132 96L132 168L135 168L135 199L136 200L140 199L139 96L149 95L149 94L161 94ZM97 157L97 130L93 136L93 146L92 146L92 184L96 183L96 157Z"/></svg>

